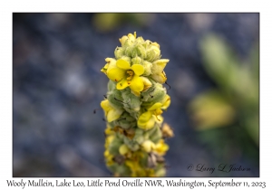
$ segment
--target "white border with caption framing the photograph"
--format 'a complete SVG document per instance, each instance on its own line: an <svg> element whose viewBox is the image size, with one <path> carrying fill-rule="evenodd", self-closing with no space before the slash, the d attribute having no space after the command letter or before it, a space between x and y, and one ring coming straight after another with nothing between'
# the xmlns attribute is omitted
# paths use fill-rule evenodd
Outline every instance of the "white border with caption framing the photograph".
<svg viewBox="0 0 272 190"><path fill-rule="evenodd" d="M95 4L95 5L94 5ZM271 10L268 1L2 1L0 3L0 85L1 85L1 131L0 131L0 186L4 189L18 189L18 187L6 187L7 179L12 177L12 13L13 12L259 12L260 13L260 177L234 178L235 181L266 182L267 188L271 186L270 176L272 172L271 158ZM20 178L21 179L21 178ZM28 180L31 178L24 178ZM33 178L37 179L37 178ZM55 178L46 178L48 180ZM59 180L63 178L58 178ZM81 178L69 178L69 180ZM83 181L88 178L82 178ZM92 178L94 180L95 178ZM107 178L102 178L105 180ZM131 180L131 178L122 178ZM141 178L142 180L144 178ZM162 178L160 178L162 179ZM174 178L177 180L177 178ZM186 180L206 181L224 180L231 178L185 178ZM15 178L19 181L19 178ZM163 179L164 180L164 179ZM73 189L79 189L72 187ZM88 187L91 188L91 187ZM96 189L97 187L92 187ZM126 189L127 187L113 187ZM150 187L141 187L150 188ZM180 187L179 187L180 188ZM237 187L237 189L248 187ZM31 189L31 188L24 188ZM32 189L52 189L46 187ZM59 187L58 189L64 189ZM83 189L83 188L81 188ZM189 188L185 188L189 189ZM205 189L214 189L207 187ZM218 188L221 189L221 188ZM250 189L250 188L249 188Z"/></svg>

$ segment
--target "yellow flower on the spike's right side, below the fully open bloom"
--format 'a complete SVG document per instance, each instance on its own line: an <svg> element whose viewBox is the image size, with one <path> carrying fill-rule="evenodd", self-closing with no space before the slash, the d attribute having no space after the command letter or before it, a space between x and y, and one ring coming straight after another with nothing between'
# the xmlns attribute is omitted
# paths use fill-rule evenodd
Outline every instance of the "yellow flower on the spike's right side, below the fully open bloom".
<svg viewBox="0 0 272 190"><path fill-rule="evenodd" d="M151 129L155 123L161 123L163 118L160 114L163 112L161 109L167 109L170 106L170 96L166 95L162 100L163 103L157 102L151 106L146 112L142 113L138 119L137 125L142 129Z"/></svg>

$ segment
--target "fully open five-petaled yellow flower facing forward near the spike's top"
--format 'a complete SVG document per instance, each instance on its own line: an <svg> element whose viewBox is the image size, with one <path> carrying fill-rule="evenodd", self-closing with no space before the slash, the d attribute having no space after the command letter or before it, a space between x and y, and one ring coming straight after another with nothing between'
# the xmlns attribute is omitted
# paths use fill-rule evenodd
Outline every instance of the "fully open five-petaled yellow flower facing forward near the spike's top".
<svg viewBox="0 0 272 190"><path fill-rule="evenodd" d="M140 96L141 90L144 89L144 83L140 75L144 72L141 64L133 64L125 60L117 60L112 62L107 69L107 76L112 81L117 81L116 89L123 90L130 87L131 90Z"/></svg>

